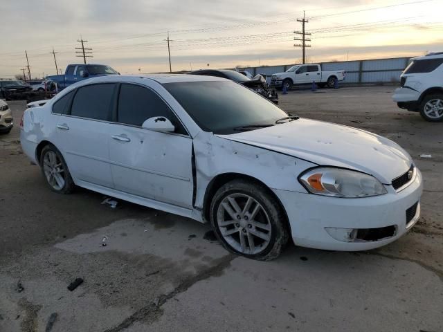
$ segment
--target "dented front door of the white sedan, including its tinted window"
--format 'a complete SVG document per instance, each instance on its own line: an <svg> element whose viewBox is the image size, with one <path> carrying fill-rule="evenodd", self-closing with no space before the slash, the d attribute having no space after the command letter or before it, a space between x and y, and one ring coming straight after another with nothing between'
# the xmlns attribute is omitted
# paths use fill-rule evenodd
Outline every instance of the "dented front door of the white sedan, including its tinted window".
<svg viewBox="0 0 443 332"><path fill-rule="evenodd" d="M143 129L163 116L175 132ZM109 156L116 189L182 208L192 207L192 139L168 104L152 89L121 84Z"/></svg>

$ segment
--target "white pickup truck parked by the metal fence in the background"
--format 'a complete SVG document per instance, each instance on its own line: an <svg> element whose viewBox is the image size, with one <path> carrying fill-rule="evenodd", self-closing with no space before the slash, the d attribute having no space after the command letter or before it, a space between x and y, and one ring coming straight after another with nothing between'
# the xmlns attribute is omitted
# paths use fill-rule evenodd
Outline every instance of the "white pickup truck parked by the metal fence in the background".
<svg viewBox="0 0 443 332"><path fill-rule="evenodd" d="M271 76L271 86L286 87L298 84L316 84L320 87L333 88L336 82L345 79L345 71L322 71L319 64L296 64L284 73L276 73Z"/></svg>

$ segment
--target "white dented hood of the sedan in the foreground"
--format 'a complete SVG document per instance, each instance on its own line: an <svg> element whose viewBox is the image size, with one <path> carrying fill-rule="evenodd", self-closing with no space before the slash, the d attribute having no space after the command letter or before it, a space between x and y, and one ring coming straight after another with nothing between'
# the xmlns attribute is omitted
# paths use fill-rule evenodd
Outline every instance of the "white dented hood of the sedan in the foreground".
<svg viewBox="0 0 443 332"><path fill-rule="evenodd" d="M404 174L413 163L397 143L352 127L298 119L273 127L217 135L324 166L371 174L384 184Z"/></svg>

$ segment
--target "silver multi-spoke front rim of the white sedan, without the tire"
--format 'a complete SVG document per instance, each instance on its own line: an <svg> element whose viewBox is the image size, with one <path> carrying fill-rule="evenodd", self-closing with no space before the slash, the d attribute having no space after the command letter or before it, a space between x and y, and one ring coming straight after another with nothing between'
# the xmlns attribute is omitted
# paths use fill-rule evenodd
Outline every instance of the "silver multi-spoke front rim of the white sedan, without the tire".
<svg viewBox="0 0 443 332"><path fill-rule="evenodd" d="M257 255L271 241L271 221L253 197L230 194L219 204L217 225L221 236L237 252Z"/></svg>

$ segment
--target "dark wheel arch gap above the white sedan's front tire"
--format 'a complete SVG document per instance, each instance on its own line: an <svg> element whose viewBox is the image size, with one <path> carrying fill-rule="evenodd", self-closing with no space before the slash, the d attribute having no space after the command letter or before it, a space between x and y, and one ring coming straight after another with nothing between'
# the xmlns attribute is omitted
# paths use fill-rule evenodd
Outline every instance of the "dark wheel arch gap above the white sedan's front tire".
<svg viewBox="0 0 443 332"><path fill-rule="evenodd" d="M250 175L242 174L242 173L235 173L235 172L222 173L222 174L218 174L210 181L210 183L206 187L204 201L203 201L202 214L203 214L204 220L210 221L210 203L211 203L212 197L217 192L217 190L219 190L219 188L222 185L228 183L229 181L233 181L233 180L237 180L237 179L250 181L251 183L255 183L257 185L260 185L260 187L263 187L264 190L266 190L266 192L268 194L270 194L273 197L273 199L275 199L275 201L278 203L278 205L280 206L280 208L282 209L282 211L284 213L284 219L285 219L284 223L287 225L287 228L289 230L289 234L291 234L291 225L289 223L289 218L288 218L287 212L284 209L284 206L283 206L282 202L280 201L280 199L278 198L278 196L265 183L263 183L259 179L255 178L253 176L250 176Z"/></svg>

